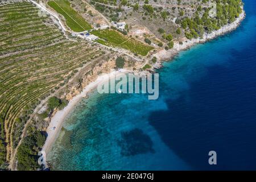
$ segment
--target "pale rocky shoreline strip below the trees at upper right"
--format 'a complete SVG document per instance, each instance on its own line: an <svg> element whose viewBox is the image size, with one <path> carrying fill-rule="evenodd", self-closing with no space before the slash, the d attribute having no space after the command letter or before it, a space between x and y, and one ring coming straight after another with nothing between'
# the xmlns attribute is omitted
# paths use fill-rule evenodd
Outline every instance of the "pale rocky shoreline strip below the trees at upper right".
<svg viewBox="0 0 256 182"><path fill-rule="evenodd" d="M184 38L181 41L182 44L180 44L180 41L174 41L174 48L169 49L168 51L166 51L166 49L163 49L158 53L155 53L154 56L160 60L170 60L170 57L174 57L179 51L183 51L192 46L195 46L195 44L205 43L208 40L217 38L217 36L224 35L232 30L235 30L238 26L240 26L240 23L244 18L245 18L245 11L242 10L242 13L238 16L238 18L234 22L230 24L226 24L225 26L221 27L219 30L213 31L210 34L204 33L203 38L197 38L197 39L191 39L191 40Z"/></svg>

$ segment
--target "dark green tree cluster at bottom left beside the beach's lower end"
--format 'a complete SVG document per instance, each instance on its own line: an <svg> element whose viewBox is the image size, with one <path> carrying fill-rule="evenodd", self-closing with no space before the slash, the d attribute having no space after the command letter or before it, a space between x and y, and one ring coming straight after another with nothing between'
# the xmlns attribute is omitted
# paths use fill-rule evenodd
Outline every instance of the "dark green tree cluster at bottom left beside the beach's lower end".
<svg viewBox="0 0 256 182"><path fill-rule="evenodd" d="M46 136L40 131L35 131L24 138L17 152L19 171L31 171L40 168L38 152L43 147L45 140Z"/></svg>

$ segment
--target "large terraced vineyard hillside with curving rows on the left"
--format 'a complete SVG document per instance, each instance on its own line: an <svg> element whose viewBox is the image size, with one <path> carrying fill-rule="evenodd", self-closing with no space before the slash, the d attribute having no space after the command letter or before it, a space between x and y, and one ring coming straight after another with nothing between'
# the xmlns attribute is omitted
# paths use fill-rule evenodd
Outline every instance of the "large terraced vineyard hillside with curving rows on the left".
<svg viewBox="0 0 256 182"><path fill-rule="evenodd" d="M71 42L29 2L0 6L0 144L11 159L32 110L79 68L102 54L90 44ZM4 151L1 151L1 153Z"/></svg>

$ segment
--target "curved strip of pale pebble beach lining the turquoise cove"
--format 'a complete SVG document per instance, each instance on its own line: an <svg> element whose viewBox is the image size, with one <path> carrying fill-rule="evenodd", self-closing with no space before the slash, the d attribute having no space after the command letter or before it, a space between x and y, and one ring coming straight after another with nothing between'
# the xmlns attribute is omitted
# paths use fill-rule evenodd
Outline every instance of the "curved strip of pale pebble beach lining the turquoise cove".
<svg viewBox="0 0 256 182"><path fill-rule="evenodd" d="M55 115L53 115L53 117L51 118L51 122L49 123L49 126L47 127L47 130L46 130L48 136L47 136L46 142L44 142L44 146L42 149L42 151L44 151L46 155L49 152L49 150L51 150L53 143L58 137L65 118L73 109L73 107L76 106L77 102L79 102L82 98L88 96L88 93L90 93L93 89L97 88L99 84L102 84L103 82L106 82L109 79L121 73L129 73L129 71L126 69L121 69L119 71L114 71L109 74L99 76L96 81L90 82L89 85L85 86L85 88L82 90L80 94L73 97L72 100L69 101L68 105L63 110L58 110L55 113ZM47 159L47 156L44 156L44 157L45 159Z"/></svg>

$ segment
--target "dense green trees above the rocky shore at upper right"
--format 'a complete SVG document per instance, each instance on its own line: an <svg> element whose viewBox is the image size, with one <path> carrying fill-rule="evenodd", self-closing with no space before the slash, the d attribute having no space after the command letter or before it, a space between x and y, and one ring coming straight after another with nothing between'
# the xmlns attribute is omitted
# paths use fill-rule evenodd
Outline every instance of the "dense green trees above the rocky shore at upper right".
<svg viewBox="0 0 256 182"><path fill-rule="evenodd" d="M209 11L213 7L202 9L197 8L193 18L185 17L181 20L181 27L185 30L185 36L188 39L198 38L204 35L204 32L212 32L220 29L227 23L232 23L242 12L241 0L215 0L216 1L216 17L211 18ZM201 11L204 10L203 16L200 18Z"/></svg>

